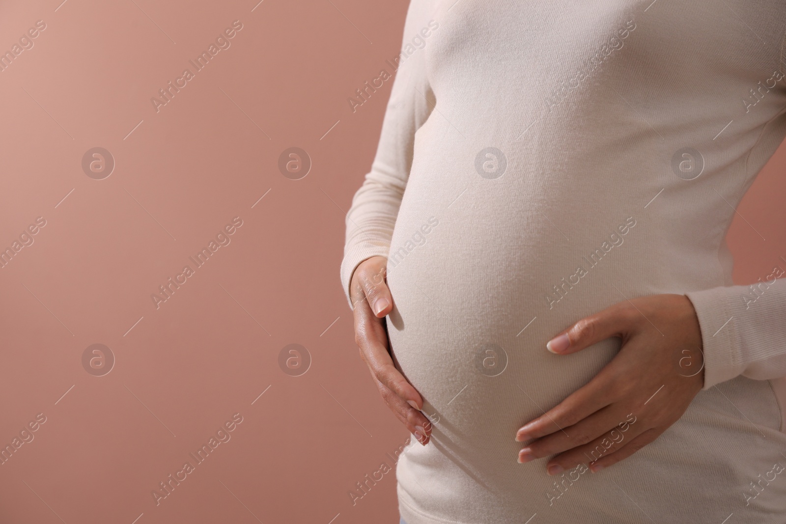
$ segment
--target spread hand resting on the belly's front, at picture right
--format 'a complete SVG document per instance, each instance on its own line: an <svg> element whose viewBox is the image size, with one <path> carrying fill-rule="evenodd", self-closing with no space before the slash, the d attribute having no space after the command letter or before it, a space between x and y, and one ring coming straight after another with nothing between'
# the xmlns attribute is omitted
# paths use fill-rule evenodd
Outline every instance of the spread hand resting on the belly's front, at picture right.
<svg viewBox="0 0 786 524"><path fill-rule="evenodd" d="M654 441L688 409L704 383L699 321L685 295L650 295L583 318L546 345L567 355L617 336L623 345L586 386L524 424L516 441L532 438L519 462L554 455L557 475L578 464L593 472Z"/></svg>

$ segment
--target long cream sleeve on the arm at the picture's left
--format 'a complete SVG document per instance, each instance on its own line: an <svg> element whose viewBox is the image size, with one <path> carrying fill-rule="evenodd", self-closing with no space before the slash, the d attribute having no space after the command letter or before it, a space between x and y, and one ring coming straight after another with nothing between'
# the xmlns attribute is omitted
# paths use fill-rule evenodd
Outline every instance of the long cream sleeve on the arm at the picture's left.
<svg viewBox="0 0 786 524"><path fill-rule="evenodd" d="M426 78L424 49L419 49L428 46L428 34L439 30L439 24L429 20L430 3L413 0L407 10L402 53L376 156L347 213L341 282L350 307L349 284L354 269L366 258L387 256L390 249L395 219L410 176L415 131L426 121L435 104ZM392 74L390 69L386 64L386 71ZM380 76L384 77L381 72Z"/></svg>

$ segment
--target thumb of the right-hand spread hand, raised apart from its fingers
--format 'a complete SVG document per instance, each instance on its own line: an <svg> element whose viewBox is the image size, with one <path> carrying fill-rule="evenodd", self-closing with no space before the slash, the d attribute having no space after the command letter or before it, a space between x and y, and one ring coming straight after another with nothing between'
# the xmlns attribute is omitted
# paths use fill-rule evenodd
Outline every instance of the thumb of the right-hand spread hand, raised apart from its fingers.
<svg viewBox="0 0 786 524"><path fill-rule="evenodd" d="M584 317L549 340L545 346L554 354L567 355L612 336L625 339L634 324L631 309L627 302L619 302L600 313Z"/></svg>

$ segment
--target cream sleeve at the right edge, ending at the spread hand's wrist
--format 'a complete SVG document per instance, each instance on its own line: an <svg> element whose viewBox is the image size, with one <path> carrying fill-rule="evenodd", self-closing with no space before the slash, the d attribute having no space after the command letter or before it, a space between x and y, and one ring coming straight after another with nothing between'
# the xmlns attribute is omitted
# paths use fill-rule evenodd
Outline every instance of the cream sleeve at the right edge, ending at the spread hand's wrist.
<svg viewBox="0 0 786 524"><path fill-rule="evenodd" d="M786 278L779 267L751 286L686 293L699 317L704 387L743 375L786 376Z"/></svg>

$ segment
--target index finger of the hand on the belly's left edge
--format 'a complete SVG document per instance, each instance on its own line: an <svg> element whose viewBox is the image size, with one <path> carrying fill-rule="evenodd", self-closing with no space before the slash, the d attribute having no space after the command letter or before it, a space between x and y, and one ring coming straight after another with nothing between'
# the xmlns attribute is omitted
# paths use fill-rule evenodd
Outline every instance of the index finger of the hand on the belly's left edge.
<svg viewBox="0 0 786 524"><path fill-rule="evenodd" d="M354 339L360 348L361 357L369 366L369 372L374 379L379 380L414 409L423 409L421 395L393 365L393 359L387 351L387 333L382 322L373 316L368 303L360 302L355 307Z"/></svg>

